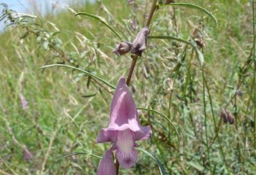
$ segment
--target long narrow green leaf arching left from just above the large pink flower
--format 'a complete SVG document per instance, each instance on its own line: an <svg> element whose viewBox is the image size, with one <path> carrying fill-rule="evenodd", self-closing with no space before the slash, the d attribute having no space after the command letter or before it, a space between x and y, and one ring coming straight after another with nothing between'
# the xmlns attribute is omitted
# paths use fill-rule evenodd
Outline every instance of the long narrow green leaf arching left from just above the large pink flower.
<svg viewBox="0 0 256 175"><path fill-rule="evenodd" d="M91 74L89 71L84 71L82 69L79 69L79 68L76 68L76 67L73 67L73 66L69 66L69 65L65 65L65 64L50 64L50 65L45 65L45 66L39 67L39 69L46 69L46 68L51 68L51 67L67 67L67 68L70 68L70 69L74 69L74 70L83 72L84 74L88 75L89 77L92 77L94 79L98 79L100 82L103 82L105 85L108 85L108 87L116 89L116 87L114 85L111 85L109 82L105 81L105 79L97 77L96 75ZM37 69L37 70L39 70L39 69Z"/></svg>

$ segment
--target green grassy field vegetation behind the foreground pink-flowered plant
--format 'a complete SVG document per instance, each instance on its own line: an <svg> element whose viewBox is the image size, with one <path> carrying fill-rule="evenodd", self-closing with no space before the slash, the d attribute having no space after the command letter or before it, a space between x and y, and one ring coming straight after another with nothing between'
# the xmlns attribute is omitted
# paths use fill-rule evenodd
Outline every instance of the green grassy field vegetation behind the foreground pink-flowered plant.
<svg viewBox="0 0 256 175"><path fill-rule="evenodd" d="M151 1L130 2L104 0L77 4L57 15L15 18L15 25L1 34L0 174L96 173L99 158L91 155L56 160L71 152L101 156L110 147L96 144L96 138L108 125L113 91L72 69L37 69L65 63L116 85L118 77L128 74L130 55L112 53L120 40L97 20L74 15L102 16L132 42ZM150 35L197 42L205 65L182 42L148 39L130 87L138 107L170 118L178 140L161 116L140 110L141 123L153 130L153 137L140 147L156 156L167 174L256 174L252 4L193 3L212 12L219 26L197 9L162 7ZM22 95L29 103L26 109ZM233 124L223 122L222 109L234 117ZM159 169L140 152L136 166L121 168L120 174L159 174Z"/></svg>

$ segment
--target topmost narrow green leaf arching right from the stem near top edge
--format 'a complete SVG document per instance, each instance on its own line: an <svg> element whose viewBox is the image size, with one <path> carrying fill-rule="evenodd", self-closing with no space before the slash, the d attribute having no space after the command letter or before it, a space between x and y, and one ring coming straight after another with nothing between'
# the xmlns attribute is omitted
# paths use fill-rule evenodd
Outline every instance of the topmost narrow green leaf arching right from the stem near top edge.
<svg viewBox="0 0 256 175"><path fill-rule="evenodd" d="M209 12L207 9L204 9L203 7L197 6L195 4L190 4L190 3L170 3L170 4L159 4L159 7L161 6L181 6L181 7L189 7L192 9L198 9L201 12L206 13L206 15L208 15L211 19L214 20L214 23L216 25L216 27L218 27L218 21L217 19L214 17L214 15L212 15L211 12Z"/></svg>

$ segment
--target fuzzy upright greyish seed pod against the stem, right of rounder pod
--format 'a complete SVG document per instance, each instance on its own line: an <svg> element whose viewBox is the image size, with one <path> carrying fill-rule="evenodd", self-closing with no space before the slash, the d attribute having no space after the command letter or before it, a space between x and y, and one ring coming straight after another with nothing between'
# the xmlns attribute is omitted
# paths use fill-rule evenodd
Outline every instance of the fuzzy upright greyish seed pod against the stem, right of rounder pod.
<svg viewBox="0 0 256 175"><path fill-rule="evenodd" d="M142 52L146 50L146 43L148 39L148 28L142 28L138 35L136 36L135 40L132 42L132 50L131 52L135 55L141 57Z"/></svg>

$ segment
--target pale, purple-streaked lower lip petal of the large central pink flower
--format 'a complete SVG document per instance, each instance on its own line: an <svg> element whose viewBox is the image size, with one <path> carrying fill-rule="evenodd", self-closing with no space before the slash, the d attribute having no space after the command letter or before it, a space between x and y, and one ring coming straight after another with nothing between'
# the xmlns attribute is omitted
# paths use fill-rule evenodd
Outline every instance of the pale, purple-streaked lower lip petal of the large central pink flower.
<svg viewBox="0 0 256 175"><path fill-rule="evenodd" d="M138 152L134 149L135 141L133 141L132 133L129 129L118 131L116 141L116 158L120 166L131 168L137 163Z"/></svg>

